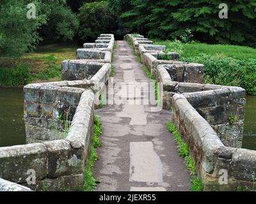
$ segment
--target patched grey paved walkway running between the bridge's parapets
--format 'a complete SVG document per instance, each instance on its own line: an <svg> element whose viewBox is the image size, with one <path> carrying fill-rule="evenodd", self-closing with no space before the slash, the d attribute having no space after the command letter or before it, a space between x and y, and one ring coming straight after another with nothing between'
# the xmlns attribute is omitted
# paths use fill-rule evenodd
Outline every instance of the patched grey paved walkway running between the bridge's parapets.
<svg viewBox="0 0 256 204"><path fill-rule="evenodd" d="M189 171L166 131L170 112L147 104L154 89L127 42L116 41L113 66L113 95L124 103L97 110L103 130L94 167L95 177L102 180L97 190L188 191Z"/></svg>

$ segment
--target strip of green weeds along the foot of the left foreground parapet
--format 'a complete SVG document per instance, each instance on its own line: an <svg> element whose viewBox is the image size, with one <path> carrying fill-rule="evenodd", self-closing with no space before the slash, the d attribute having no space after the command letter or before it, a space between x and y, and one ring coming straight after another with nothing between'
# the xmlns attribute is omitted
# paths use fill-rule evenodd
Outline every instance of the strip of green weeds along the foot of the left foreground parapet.
<svg viewBox="0 0 256 204"><path fill-rule="evenodd" d="M94 116L92 145L90 147L89 156L86 162L86 168L84 170L84 186L82 191L94 191L99 179L95 179L93 175L93 163L97 161L98 155L95 152L95 148L101 147L102 143L99 140L99 136L102 134L101 123L99 117Z"/></svg>

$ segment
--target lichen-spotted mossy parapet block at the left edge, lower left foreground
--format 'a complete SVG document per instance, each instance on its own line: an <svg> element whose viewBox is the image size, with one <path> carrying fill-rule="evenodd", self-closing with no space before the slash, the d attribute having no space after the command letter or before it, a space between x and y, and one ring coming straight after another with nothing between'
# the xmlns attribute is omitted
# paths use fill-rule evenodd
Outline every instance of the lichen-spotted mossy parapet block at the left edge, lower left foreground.
<svg viewBox="0 0 256 204"><path fill-rule="evenodd" d="M42 143L0 148L0 177L24 183L35 171L36 181L47 175L47 149Z"/></svg>

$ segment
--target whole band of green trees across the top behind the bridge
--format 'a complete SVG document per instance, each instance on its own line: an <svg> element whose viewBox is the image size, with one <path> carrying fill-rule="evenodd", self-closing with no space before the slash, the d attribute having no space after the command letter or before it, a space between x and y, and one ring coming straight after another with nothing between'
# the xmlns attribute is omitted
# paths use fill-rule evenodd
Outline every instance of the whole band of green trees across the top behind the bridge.
<svg viewBox="0 0 256 204"><path fill-rule="evenodd" d="M227 19L218 15L221 0L35 0L35 19L26 17L29 3L1 0L0 55L20 56L42 40L88 41L100 33L173 40L187 29L201 42L256 47L255 0L225 1Z"/></svg>

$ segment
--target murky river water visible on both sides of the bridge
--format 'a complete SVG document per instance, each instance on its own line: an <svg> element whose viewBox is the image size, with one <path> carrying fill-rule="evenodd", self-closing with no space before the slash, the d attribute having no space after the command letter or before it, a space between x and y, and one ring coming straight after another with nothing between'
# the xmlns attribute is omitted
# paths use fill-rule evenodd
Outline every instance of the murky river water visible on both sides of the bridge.
<svg viewBox="0 0 256 204"><path fill-rule="evenodd" d="M22 90L0 88L0 147L26 143ZM256 150L256 96L246 97L243 148Z"/></svg>

